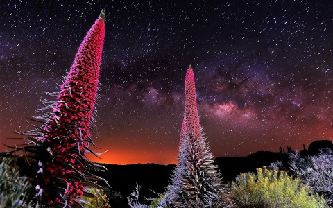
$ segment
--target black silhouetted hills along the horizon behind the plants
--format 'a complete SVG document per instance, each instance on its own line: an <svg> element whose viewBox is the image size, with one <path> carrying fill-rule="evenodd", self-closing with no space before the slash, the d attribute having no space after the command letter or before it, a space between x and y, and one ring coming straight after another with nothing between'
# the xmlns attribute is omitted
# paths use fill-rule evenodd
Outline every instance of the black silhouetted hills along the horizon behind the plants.
<svg viewBox="0 0 333 208"><path fill-rule="evenodd" d="M318 140L309 145L308 150L303 146L300 155L309 156L319 153L321 148L330 148L333 150L332 141ZM291 147L287 146L287 153L292 151ZM280 148L279 153L268 151L259 151L246 157L217 157L215 164L219 166L223 176L223 182L231 182L239 175L239 173L254 172L256 168L269 166L272 162L278 160L287 162L288 155L284 149ZM0 153L0 157L8 157L6 153ZM169 184L172 175L174 164L167 166L160 164L131 164L131 165L114 165L103 164L108 171L96 172L96 175L108 180L111 190L107 192L110 205L112 208L126 208L128 206L127 196L129 192L135 189L135 184L142 186L140 191L140 202L148 204L146 198L155 198L156 193L164 193L165 188ZM105 184L101 184L105 185ZM153 191L156 193L153 193Z"/></svg>

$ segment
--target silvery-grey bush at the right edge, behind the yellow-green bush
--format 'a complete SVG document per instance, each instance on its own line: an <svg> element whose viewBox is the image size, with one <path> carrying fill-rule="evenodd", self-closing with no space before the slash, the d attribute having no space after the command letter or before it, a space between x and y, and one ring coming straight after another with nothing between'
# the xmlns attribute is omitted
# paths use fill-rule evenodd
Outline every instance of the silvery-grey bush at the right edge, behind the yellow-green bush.
<svg viewBox="0 0 333 208"><path fill-rule="evenodd" d="M318 155L302 158L297 152L289 155L290 169L311 190L324 196L333 206L333 152L329 148L319 150Z"/></svg>

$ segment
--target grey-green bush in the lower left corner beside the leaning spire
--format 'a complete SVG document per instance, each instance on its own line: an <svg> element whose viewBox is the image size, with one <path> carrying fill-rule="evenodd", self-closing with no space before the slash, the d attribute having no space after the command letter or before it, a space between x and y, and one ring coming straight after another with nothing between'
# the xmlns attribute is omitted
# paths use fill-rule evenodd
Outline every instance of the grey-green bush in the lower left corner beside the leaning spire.
<svg viewBox="0 0 333 208"><path fill-rule="evenodd" d="M26 191L31 184L26 177L19 176L19 170L12 158L0 156L0 207L28 207Z"/></svg>

